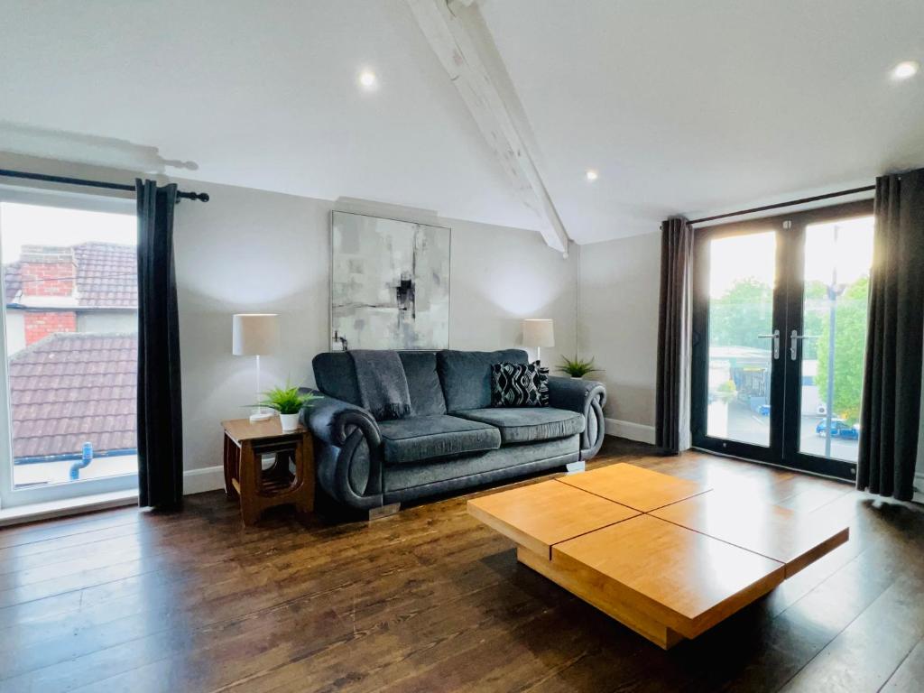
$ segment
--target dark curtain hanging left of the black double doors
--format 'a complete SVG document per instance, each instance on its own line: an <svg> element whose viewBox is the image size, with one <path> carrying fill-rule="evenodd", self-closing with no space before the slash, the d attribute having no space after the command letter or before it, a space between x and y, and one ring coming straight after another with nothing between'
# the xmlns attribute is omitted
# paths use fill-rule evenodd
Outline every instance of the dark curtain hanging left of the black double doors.
<svg viewBox="0 0 924 693"><path fill-rule="evenodd" d="M676 455L690 446L693 228L675 217L661 225L661 308L655 442Z"/></svg>

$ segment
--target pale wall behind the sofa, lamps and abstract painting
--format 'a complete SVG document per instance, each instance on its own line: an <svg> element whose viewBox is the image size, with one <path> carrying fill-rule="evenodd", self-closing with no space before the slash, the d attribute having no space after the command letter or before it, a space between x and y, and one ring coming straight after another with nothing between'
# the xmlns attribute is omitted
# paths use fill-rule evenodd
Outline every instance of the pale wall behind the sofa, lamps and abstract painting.
<svg viewBox="0 0 924 693"><path fill-rule="evenodd" d="M314 384L311 358L327 349L330 201L214 184L212 200L182 202L174 242L183 378L185 464L221 464L222 419L240 418L254 399L253 359L231 355L231 315L280 314L280 352L262 359L263 383ZM374 205L363 205L371 212ZM357 211L356 206L338 209ZM394 208L383 209L394 215ZM419 214L408 212L405 218ZM453 230L450 346L517 346L520 320L555 321L558 346L576 343L577 253L567 260L534 231L427 219ZM188 484L189 485L189 484Z"/></svg>

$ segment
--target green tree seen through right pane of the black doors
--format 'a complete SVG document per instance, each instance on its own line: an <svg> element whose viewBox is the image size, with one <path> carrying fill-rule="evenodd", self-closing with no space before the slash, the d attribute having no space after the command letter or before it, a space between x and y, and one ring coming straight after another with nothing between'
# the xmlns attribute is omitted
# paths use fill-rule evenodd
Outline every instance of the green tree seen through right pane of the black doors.
<svg viewBox="0 0 924 693"><path fill-rule="evenodd" d="M862 276L847 286L837 299L834 328L834 401L829 402L832 413L847 423L854 424L860 415L860 398L863 391L863 352L866 348L867 315L869 313L869 277ZM824 399L828 391L828 340L830 321L827 312L821 324L818 341L818 375L815 383Z"/></svg>

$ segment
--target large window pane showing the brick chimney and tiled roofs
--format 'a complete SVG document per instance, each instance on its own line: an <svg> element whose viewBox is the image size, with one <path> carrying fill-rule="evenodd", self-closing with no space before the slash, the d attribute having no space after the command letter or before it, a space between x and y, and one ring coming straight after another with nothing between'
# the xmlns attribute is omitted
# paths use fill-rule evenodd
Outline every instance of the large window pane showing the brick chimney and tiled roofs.
<svg viewBox="0 0 924 693"><path fill-rule="evenodd" d="M136 235L130 214L0 204L16 489L137 472Z"/></svg>

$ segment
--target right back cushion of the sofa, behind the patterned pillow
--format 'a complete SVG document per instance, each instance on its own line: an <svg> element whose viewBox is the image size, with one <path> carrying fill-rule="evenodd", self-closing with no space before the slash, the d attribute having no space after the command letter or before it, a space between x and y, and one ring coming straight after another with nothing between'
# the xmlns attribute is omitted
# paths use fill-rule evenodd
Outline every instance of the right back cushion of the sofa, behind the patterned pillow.
<svg viewBox="0 0 924 693"><path fill-rule="evenodd" d="M522 349L454 351L436 355L446 411L491 407L491 366L494 363L529 363Z"/></svg>

